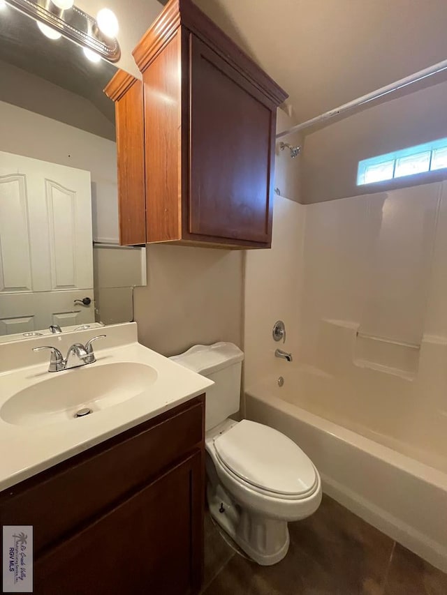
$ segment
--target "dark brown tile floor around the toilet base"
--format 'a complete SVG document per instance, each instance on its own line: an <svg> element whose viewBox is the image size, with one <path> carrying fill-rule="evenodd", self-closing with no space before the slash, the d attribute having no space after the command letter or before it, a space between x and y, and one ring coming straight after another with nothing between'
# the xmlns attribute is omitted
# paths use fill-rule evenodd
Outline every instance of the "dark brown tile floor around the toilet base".
<svg viewBox="0 0 447 595"><path fill-rule="evenodd" d="M447 574L328 496L289 525L288 555L263 567L234 552L207 514L203 595L447 595Z"/></svg>

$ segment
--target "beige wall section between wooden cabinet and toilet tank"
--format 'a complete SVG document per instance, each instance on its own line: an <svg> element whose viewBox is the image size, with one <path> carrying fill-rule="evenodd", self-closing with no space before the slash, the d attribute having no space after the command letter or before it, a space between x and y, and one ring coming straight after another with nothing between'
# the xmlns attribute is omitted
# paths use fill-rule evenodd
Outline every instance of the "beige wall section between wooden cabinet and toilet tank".
<svg viewBox="0 0 447 595"><path fill-rule="evenodd" d="M198 343L242 346L243 253L147 246L147 287L134 295L138 339L164 355Z"/></svg>

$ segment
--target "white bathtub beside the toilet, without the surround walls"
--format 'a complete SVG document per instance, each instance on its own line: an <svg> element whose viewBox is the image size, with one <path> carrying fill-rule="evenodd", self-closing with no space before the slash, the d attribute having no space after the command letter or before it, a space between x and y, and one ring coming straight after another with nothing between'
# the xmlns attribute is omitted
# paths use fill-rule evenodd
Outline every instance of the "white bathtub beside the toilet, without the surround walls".
<svg viewBox="0 0 447 595"><path fill-rule="evenodd" d="M445 461L325 419L312 412L309 400L300 400L296 379L285 379L282 388L271 377L246 389L247 419L293 439L318 468L328 495L447 572Z"/></svg>

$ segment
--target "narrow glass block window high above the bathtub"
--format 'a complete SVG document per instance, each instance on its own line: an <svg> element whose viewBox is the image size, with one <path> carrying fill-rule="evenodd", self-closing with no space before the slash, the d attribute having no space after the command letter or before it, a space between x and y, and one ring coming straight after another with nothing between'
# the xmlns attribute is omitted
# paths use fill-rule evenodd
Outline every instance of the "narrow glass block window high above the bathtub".
<svg viewBox="0 0 447 595"><path fill-rule="evenodd" d="M444 168L447 168L447 138L359 161L357 185L414 176Z"/></svg>

